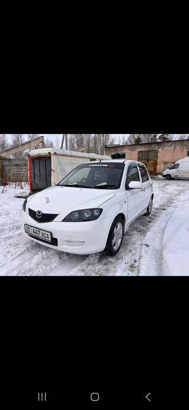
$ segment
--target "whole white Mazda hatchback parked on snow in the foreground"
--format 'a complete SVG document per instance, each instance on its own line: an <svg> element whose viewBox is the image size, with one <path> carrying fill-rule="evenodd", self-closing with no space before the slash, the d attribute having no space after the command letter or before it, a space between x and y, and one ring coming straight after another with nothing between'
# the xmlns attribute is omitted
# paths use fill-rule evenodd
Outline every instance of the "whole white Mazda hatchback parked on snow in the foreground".
<svg viewBox="0 0 189 410"><path fill-rule="evenodd" d="M146 166L110 160L82 164L58 185L31 195L20 210L21 231L33 241L73 254L119 252L128 226L152 211Z"/></svg>

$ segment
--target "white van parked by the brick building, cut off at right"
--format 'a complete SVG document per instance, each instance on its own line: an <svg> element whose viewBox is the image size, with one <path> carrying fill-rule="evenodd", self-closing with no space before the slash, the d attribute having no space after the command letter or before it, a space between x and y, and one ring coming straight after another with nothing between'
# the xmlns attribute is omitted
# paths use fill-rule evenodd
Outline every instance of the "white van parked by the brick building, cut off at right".
<svg viewBox="0 0 189 410"><path fill-rule="evenodd" d="M189 156L177 161L162 174L163 178L189 178Z"/></svg>

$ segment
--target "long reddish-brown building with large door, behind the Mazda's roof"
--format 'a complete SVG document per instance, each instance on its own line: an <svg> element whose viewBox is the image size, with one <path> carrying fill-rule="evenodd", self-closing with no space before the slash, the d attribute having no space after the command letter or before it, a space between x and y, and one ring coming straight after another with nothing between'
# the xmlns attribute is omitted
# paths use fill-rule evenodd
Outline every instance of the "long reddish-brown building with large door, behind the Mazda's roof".
<svg viewBox="0 0 189 410"><path fill-rule="evenodd" d="M189 140L106 145L104 154L111 156L112 159L140 161L147 166L151 174L162 174L171 164L189 156Z"/></svg>

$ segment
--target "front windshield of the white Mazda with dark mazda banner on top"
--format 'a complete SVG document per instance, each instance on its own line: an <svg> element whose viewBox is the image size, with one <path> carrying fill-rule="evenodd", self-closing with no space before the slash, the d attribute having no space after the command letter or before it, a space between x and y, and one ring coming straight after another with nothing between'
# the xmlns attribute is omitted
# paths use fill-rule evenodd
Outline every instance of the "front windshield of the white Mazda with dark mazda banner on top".
<svg viewBox="0 0 189 410"><path fill-rule="evenodd" d="M66 175L58 186L93 189L119 189L124 163L82 164Z"/></svg>

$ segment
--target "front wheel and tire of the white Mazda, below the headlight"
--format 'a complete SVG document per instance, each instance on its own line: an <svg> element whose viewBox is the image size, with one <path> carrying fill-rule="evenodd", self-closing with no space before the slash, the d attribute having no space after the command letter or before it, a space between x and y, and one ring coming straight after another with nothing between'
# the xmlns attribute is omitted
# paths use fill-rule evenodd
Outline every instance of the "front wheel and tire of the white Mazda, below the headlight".
<svg viewBox="0 0 189 410"><path fill-rule="evenodd" d="M106 255L114 256L119 252L122 245L123 236L124 222L120 216L117 216L111 225L106 247L104 249Z"/></svg>

